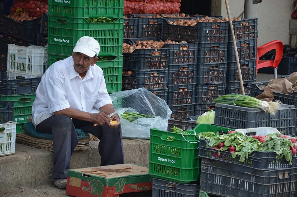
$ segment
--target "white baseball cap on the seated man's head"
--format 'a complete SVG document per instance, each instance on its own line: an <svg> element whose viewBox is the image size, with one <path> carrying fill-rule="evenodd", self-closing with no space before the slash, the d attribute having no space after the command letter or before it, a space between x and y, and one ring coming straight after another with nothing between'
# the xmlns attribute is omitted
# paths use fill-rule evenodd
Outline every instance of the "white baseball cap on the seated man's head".
<svg viewBox="0 0 297 197"><path fill-rule="evenodd" d="M88 57L94 57L95 55L97 57L99 51L100 45L98 41L89 36L81 37L73 49L73 52L80 52L87 55Z"/></svg>

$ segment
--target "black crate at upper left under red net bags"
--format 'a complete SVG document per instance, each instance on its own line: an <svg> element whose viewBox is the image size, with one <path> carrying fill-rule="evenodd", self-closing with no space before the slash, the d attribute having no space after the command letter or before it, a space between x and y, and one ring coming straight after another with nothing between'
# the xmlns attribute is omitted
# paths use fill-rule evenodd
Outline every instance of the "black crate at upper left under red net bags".
<svg viewBox="0 0 297 197"><path fill-rule="evenodd" d="M19 23L7 16L0 15L0 32L13 36L20 40L37 40L40 32L41 17L32 20L24 20Z"/></svg>

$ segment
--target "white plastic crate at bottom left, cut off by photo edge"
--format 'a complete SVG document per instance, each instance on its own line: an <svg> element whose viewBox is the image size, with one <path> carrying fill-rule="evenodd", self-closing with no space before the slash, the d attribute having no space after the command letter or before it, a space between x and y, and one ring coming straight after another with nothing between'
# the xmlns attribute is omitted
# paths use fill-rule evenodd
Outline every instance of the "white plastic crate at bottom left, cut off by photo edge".
<svg viewBox="0 0 297 197"><path fill-rule="evenodd" d="M0 124L0 129L0 156L15 153L16 122Z"/></svg>

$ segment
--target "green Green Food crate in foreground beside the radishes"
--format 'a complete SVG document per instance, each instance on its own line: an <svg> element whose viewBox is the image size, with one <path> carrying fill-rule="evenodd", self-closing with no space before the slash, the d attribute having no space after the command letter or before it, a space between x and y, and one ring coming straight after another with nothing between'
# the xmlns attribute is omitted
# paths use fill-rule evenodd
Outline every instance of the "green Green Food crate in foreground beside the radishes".
<svg viewBox="0 0 297 197"><path fill-rule="evenodd" d="M228 128L198 124L192 131L187 131L190 135L151 128L149 174L154 178L180 183L200 180L199 139L194 133L209 131L228 133ZM167 136L172 136L174 140L166 140Z"/></svg>

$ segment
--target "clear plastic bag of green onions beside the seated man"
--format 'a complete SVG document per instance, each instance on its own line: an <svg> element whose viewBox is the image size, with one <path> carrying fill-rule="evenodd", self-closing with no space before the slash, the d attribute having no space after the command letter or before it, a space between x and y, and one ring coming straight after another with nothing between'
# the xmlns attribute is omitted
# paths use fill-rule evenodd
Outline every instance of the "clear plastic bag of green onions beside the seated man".
<svg viewBox="0 0 297 197"><path fill-rule="evenodd" d="M167 131L167 120L172 111L164 99L145 88L125 90L110 94L114 109L121 115L125 111L153 115L156 118L139 118L129 122L120 117L123 138L149 139L150 128Z"/></svg>

